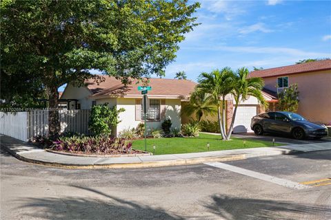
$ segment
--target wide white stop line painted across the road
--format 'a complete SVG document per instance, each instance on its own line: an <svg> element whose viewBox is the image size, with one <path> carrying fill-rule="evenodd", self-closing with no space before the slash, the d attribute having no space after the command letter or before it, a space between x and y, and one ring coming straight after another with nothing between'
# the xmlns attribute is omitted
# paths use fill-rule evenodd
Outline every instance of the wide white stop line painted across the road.
<svg viewBox="0 0 331 220"><path fill-rule="evenodd" d="M269 181L273 184L278 184L280 186L285 186L285 187L288 187L288 188L294 188L294 189L297 189L297 190L301 190L301 189L305 189L305 188L311 188L311 186L306 186L306 185L300 184L300 183L295 182L295 181L291 181L291 180L288 180L288 179L281 179L281 178L273 177L273 176L270 176L270 175L265 175L263 173L258 173L258 172L252 171L252 170L247 170L247 169L244 169L244 168L240 168L238 166L232 166L232 165L223 164L223 163L220 163L220 162L208 162L208 163L205 163L205 164L209 165L209 166L214 166L214 167L217 167L217 168L222 168L224 170L229 170L229 171L232 171L234 173L240 173L240 174L246 175L248 177L254 177L254 178L257 178L257 179L264 180L264 181Z"/></svg>

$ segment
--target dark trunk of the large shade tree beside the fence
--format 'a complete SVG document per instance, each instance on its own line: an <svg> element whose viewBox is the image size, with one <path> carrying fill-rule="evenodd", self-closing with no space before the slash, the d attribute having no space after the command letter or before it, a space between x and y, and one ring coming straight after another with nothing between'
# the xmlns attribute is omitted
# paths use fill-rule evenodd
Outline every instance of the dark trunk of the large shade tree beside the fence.
<svg viewBox="0 0 331 220"><path fill-rule="evenodd" d="M59 94L57 87L48 87L49 114L48 114L48 136L56 138L61 131L59 121Z"/></svg>

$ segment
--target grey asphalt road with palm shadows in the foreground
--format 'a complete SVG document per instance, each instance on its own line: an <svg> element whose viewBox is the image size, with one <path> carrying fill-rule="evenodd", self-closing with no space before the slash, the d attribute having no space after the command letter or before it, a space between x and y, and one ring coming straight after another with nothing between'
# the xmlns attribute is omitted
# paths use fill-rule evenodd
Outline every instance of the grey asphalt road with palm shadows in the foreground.
<svg viewBox="0 0 331 220"><path fill-rule="evenodd" d="M331 151L227 162L280 186L206 164L70 170L1 151L1 219L331 219Z"/></svg>

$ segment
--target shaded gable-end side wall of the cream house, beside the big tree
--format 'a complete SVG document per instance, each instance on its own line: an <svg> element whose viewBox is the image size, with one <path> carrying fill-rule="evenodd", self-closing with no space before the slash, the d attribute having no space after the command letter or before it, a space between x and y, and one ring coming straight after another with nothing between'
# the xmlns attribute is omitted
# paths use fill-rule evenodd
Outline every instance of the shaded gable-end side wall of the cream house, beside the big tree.
<svg viewBox="0 0 331 220"><path fill-rule="evenodd" d="M64 89L61 96L62 99L78 99L79 104L81 104L81 109L90 109L92 106L92 100L88 99L88 96L91 95L91 92L86 87L73 87L71 84L68 84L66 89ZM72 106L74 102L70 102L70 109L74 109Z"/></svg>

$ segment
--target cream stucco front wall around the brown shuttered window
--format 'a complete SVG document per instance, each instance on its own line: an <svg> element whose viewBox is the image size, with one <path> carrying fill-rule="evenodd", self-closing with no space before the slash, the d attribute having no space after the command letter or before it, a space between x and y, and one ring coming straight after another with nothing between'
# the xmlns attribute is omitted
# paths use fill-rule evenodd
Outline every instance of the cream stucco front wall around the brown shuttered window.
<svg viewBox="0 0 331 220"><path fill-rule="evenodd" d="M117 98L117 109L123 108L126 111L120 113L119 120L121 122L117 125L117 135L123 129L136 128L139 123L143 122L141 120L136 120L135 113L135 103L134 98ZM172 121L172 128L181 127L181 100L179 99L169 99L165 100L165 118L170 118ZM162 120L157 122L147 122L148 129L161 129Z"/></svg>

